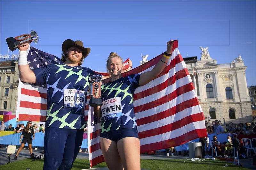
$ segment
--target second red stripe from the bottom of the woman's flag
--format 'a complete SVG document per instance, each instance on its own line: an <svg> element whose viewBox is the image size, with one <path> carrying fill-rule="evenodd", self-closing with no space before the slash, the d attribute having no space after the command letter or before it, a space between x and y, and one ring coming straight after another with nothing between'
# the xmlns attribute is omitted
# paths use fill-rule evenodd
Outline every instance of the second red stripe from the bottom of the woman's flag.
<svg viewBox="0 0 256 170"><path fill-rule="evenodd" d="M189 115L179 121L176 121L176 122L173 122L173 123L161 126L161 127L157 127L155 129L145 130L138 134L139 134L140 139L145 138L145 137L152 137L155 135L160 135L162 133L170 132L175 129L179 129L189 123L203 121L203 120L204 120L204 115L203 115L203 112L201 112L201 113L197 113L194 115Z"/></svg>

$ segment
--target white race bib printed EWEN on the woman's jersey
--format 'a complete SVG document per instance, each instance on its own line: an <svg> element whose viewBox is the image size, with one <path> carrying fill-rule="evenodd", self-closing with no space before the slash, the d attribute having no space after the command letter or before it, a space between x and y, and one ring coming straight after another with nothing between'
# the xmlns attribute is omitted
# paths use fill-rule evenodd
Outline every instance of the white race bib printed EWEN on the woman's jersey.
<svg viewBox="0 0 256 170"><path fill-rule="evenodd" d="M107 99L102 104L101 113L103 120L123 116L121 97Z"/></svg>

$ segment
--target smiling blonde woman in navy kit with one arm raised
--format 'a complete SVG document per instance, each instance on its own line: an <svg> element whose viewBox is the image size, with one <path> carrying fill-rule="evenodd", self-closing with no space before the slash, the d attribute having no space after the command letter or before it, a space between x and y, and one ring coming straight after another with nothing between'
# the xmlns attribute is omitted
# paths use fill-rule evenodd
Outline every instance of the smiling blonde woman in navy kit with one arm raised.
<svg viewBox="0 0 256 170"><path fill-rule="evenodd" d="M109 169L140 169L140 140L133 110L133 94L137 87L156 78L169 61L173 41L155 67L142 74L121 76L123 60L110 53L107 70L110 82L101 87L103 105L95 109L101 117L100 146Z"/></svg>

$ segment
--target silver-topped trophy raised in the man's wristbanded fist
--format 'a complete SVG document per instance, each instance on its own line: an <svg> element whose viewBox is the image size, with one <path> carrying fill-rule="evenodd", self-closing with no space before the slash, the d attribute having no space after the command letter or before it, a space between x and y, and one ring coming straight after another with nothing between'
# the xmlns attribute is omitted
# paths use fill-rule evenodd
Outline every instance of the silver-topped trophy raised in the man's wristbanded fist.
<svg viewBox="0 0 256 170"><path fill-rule="evenodd" d="M35 44L38 42L38 35L36 31L33 31L33 30L30 31L30 35L23 34L15 38L13 37L6 38L7 45L11 51L14 51L17 48L19 48L22 43L27 43L27 42L30 43L32 41Z"/></svg>

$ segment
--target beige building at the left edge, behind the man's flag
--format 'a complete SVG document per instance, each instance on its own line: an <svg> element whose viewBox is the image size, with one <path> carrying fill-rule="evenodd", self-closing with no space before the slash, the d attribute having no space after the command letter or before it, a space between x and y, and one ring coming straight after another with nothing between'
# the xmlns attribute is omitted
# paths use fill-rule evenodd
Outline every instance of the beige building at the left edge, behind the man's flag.
<svg viewBox="0 0 256 170"><path fill-rule="evenodd" d="M19 84L18 62L4 61L0 66L1 111L12 112L12 115L15 115Z"/></svg>

